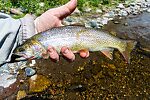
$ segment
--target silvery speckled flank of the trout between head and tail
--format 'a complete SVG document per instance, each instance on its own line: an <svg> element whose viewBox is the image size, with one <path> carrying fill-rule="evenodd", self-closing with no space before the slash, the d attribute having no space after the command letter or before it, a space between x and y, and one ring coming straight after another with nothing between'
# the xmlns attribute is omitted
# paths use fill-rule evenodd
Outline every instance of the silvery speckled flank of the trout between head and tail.
<svg viewBox="0 0 150 100"><path fill-rule="evenodd" d="M84 44L83 48L86 45L90 45L88 47L88 49L90 49L91 46L95 44L96 46L99 46L99 48L103 49L105 45L107 47L113 46L114 48L116 48L117 45L113 45L113 44L120 42L118 38L114 38L111 35L108 35L103 32L99 32L98 30L94 30L93 32L92 29L87 30L86 28L82 28L82 27L74 28L74 26L73 27L69 26L68 28L61 27L61 29L59 30L57 30L57 28L54 28L47 32L43 32L41 35L42 36L39 37L37 40L41 42L41 44L44 44L45 47L47 47L50 43L53 43L50 45L54 47L56 45L60 45L60 46L64 45L70 47L73 44Z"/></svg>

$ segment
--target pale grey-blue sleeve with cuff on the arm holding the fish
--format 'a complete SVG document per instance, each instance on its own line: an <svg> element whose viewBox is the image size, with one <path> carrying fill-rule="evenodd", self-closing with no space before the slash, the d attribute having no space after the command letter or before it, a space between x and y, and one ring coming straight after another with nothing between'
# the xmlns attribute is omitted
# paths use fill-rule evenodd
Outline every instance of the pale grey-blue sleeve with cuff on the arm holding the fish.
<svg viewBox="0 0 150 100"><path fill-rule="evenodd" d="M0 65L11 60L13 50L35 34L34 17L13 19L0 13Z"/></svg>

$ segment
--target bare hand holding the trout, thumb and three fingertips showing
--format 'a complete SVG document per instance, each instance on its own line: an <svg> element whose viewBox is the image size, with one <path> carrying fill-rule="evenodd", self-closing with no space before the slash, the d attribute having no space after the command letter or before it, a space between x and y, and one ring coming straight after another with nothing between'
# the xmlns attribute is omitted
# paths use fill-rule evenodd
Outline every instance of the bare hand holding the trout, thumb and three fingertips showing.
<svg viewBox="0 0 150 100"><path fill-rule="evenodd" d="M37 33L46 31L53 27L62 26L61 24L62 20L68 15L70 15L75 10L76 6L77 0L71 0L70 2L61 7L47 10L45 13L43 13L41 16L35 19L35 27ZM59 55L54 47L49 46L48 53L50 55L50 58L55 60L59 59ZM63 56L65 56L70 60L75 59L75 55L73 54L73 52L66 46L61 48L61 53L63 54ZM83 58L89 56L88 50L82 50L79 53L80 56Z"/></svg>

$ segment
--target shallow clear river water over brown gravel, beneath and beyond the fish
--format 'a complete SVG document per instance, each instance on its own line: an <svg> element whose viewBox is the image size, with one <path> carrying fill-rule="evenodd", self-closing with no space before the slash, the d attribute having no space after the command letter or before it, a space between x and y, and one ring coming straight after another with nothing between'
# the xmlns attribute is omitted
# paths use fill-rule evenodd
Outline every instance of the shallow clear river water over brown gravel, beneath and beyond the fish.
<svg viewBox="0 0 150 100"><path fill-rule="evenodd" d="M143 13L117 19L119 24L114 24L115 20L110 21L104 27L120 38L139 42L140 46L131 53L130 64L125 63L118 50L114 51L113 60L100 52L90 53L87 59L76 54L73 62L62 57L59 62L36 60L33 68L40 78L32 82L23 70L18 76L18 80L24 80L19 84L19 89L27 93L23 100L150 99L150 54L147 52L150 48L149 18L149 13ZM147 51L144 51L145 48ZM31 86L32 83L34 85Z"/></svg>

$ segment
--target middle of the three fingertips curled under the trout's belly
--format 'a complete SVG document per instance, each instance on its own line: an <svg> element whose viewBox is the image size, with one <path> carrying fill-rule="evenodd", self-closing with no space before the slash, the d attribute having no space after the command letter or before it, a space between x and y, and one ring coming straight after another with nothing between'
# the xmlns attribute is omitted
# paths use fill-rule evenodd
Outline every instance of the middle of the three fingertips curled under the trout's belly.
<svg viewBox="0 0 150 100"><path fill-rule="evenodd" d="M63 56L70 59L71 61L75 60L75 55L73 54L73 52L68 47L65 47L65 46L62 47L61 53Z"/></svg>

